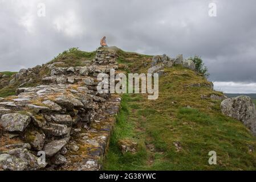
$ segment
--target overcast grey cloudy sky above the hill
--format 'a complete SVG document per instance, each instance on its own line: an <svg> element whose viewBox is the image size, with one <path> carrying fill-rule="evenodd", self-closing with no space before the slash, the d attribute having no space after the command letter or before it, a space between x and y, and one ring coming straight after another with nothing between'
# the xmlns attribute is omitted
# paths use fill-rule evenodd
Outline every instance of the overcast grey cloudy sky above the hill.
<svg viewBox="0 0 256 182"><path fill-rule="evenodd" d="M46 16L38 16L44 3ZM209 16L216 3L217 16ZM0 71L50 61L70 47L200 55L216 89L256 93L255 0L0 0Z"/></svg>

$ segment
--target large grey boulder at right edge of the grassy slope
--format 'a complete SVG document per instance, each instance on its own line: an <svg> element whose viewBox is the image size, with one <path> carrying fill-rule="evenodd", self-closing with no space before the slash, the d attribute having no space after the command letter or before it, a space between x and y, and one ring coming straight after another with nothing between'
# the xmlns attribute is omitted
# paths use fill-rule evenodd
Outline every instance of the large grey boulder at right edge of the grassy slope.
<svg viewBox="0 0 256 182"><path fill-rule="evenodd" d="M227 98L221 102L221 111L223 114L243 122L256 135L256 110L250 97Z"/></svg>

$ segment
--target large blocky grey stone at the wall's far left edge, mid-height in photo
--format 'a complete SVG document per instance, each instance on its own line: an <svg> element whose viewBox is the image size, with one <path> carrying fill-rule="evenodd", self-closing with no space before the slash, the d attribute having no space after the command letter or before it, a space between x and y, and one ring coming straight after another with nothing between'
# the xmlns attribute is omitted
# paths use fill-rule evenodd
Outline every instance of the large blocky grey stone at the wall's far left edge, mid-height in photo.
<svg viewBox="0 0 256 182"><path fill-rule="evenodd" d="M4 114L0 119L0 126L5 131L24 131L31 121L30 116L19 113Z"/></svg>

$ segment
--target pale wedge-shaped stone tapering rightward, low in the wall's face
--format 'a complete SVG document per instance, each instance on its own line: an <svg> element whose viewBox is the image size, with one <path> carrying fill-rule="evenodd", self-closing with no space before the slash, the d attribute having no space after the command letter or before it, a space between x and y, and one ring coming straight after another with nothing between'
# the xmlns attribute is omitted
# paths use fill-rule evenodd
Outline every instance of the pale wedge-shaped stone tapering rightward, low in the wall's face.
<svg viewBox="0 0 256 182"><path fill-rule="evenodd" d="M46 156L51 157L57 154L65 145L67 144L66 140L53 140L50 143L47 143L43 147L43 151Z"/></svg>

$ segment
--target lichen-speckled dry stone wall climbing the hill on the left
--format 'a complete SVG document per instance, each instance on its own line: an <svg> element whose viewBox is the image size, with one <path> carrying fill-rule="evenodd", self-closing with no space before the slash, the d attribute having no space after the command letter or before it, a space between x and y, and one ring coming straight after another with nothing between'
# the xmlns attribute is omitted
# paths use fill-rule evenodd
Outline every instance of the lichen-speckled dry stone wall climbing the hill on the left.
<svg viewBox="0 0 256 182"><path fill-rule="evenodd" d="M51 65L43 85L21 87L17 96L1 98L0 139L22 143L0 146L0 169L100 169L98 160L108 146L120 99L96 89L99 73L118 68L115 52L98 50L96 57L103 62L97 59L86 67ZM22 69L15 80L29 72ZM45 164L38 163L38 152L46 155Z"/></svg>

